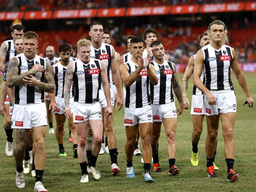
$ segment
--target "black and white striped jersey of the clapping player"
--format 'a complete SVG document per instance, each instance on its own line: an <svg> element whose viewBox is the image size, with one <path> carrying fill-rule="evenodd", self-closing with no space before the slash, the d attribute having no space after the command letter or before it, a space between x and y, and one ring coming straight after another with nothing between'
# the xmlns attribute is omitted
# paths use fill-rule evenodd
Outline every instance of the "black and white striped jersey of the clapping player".
<svg viewBox="0 0 256 192"><path fill-rule="evenodd" d="M132 75L138 67L131 60L123 64L127 66L130 75ZM125 107L141 108L150 105L149 77L145 66L143 67L142 71L140 71L136 81L133 82L133 84L131 84L129 87L125 86L125 91Z"/></svg>

